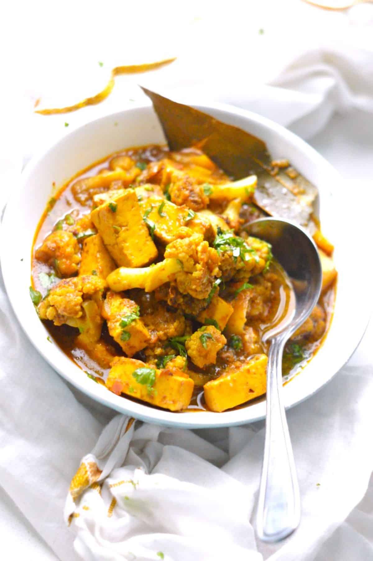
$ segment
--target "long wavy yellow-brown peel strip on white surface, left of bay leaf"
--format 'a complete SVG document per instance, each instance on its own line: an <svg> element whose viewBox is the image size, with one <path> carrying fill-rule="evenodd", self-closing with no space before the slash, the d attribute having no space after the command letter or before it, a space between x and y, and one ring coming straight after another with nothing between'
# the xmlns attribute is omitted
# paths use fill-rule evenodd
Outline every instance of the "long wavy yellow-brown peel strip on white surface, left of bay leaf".
<svg viewBox="0 0 373 561"><path fill-rule="evenodd" d="M119 76L121 74L137 74L140 72L148 72L150 70L156 70L157 68L170 64L174 60L176 60L176 57L166 58L163 61L144 63L141 65L116 66L115 68L113 68L111 72L110 79L107 85L98 94L83 99L81 102L75 103L74 105L70 105L69 107L55 107L53 109L36 109L35 113L39 113L40 115L57 115L61 113L71 113L72 111L77 111L78 109L82 109L83 107L88 107L88 105L96 105L98 103L101 103L104 99L108 97L108 95L110 95L110 93L114 88L114 84L115 84L114 79L116 76Z"/></svg>

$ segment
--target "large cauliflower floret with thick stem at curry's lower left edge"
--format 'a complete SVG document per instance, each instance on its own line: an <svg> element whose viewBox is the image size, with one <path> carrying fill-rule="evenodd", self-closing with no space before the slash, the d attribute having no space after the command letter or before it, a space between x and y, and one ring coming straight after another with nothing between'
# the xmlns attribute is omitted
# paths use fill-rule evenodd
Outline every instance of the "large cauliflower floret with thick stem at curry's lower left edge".
<svg viewBox="0 0 373 561"><path fill-rule="evenodd" d="M79 342L91 345L98 341L103 319L103 292L107 284L94 275L61 280L39 304L40 319L54 325L66 323L80 331Z"/></svg>

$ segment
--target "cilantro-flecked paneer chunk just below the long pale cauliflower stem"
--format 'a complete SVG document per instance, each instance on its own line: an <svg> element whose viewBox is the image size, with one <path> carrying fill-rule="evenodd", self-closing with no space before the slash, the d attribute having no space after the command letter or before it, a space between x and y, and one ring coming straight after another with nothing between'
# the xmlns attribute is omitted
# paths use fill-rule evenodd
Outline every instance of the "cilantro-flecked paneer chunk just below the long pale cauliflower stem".
<svg viewBox="0 0 373 561"><path fill-rule="evenodd" d="M150 334L139 318L139 306L133 300L109 291L102 315L107 320L110 335L125 351L133 356L150 342Z"/></svg>

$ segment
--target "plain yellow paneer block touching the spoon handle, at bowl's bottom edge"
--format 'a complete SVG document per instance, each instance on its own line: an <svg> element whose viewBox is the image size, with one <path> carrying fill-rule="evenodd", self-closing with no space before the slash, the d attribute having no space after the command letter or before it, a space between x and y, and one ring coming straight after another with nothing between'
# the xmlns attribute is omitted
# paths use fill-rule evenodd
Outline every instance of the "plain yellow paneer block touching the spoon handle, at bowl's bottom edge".
<svg viewBox="0 0 373 561"><path fill-rule="evenodd" d="M216 380L210 380L204 385L208 408L211 411L225 411L263 396L266 391L267 362L266 355L256 355L241 367L231 367Z"/></svg>

